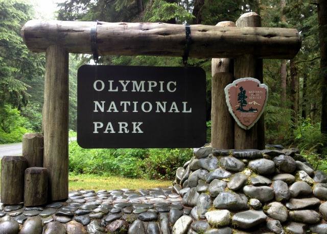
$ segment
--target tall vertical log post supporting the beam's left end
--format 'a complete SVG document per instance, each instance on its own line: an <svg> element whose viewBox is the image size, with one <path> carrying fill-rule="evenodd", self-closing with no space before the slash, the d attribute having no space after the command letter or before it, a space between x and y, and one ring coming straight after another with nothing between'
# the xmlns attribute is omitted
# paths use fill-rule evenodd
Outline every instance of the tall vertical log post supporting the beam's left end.
<svg viewBox="0 0 327 234"><path fill-rule="evenodd" d="M68 197L68 53L60 45L45 52L43 167L49 171L49 199Z"/></svg>

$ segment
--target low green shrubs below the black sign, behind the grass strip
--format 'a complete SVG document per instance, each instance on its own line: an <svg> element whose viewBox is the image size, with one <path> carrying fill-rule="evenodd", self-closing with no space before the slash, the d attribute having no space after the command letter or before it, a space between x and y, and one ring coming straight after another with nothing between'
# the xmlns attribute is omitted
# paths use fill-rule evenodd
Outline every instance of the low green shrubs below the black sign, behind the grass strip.
<svg viewBox="0 0 327 234"><path fill-rule="evenodd" d="M69 143L69 171L76 174L173 179L191 149L83 149Z"/></svg>

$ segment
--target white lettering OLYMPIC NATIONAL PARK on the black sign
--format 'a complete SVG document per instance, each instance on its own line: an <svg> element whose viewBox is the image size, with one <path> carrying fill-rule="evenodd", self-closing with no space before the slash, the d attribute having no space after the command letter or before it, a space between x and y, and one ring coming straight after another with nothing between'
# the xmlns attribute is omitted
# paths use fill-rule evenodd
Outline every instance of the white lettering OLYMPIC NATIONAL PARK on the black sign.
<svg viewBox="0 0 327 234"><path fill-rule="evenodd" d="M107 92L175 92L177 90L176 81L140 81L140 80L119 80L114 82L108 80L105 84L102 80L96 80L93 83L95 91ZM185 101L93 101L93 112L155 112L155 113L192 113L192 107ZM93 122L93 133L144 133L142 130L143 122Z"/></svg>

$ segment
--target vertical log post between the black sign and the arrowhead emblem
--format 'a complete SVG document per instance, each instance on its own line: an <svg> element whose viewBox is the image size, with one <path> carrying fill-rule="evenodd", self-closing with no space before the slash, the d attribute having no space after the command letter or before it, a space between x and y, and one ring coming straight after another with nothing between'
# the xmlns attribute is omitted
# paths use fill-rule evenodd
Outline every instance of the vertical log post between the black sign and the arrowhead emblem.
<svg viewBox="0 0 327 234"><path fill-rule="evenodd" d="M235 22L222 21L216 26L236 27ZM213 58L211 63L211 142L213 148L234 148L234 120L228 111L224 88L233 82L233 60Z"/></svg>

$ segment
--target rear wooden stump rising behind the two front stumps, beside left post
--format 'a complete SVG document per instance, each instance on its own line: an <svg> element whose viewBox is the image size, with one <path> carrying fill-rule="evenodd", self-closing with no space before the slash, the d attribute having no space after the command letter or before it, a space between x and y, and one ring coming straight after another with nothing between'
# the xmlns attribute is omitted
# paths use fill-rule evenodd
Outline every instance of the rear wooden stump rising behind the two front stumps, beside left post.
<svg viewBox="0 0 327 234"><path fill-rule="evenodd" d="M26 133L22 137L22 155L27 160L27 167L43 167L43 135Z"/></svg>

